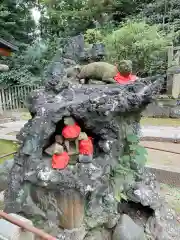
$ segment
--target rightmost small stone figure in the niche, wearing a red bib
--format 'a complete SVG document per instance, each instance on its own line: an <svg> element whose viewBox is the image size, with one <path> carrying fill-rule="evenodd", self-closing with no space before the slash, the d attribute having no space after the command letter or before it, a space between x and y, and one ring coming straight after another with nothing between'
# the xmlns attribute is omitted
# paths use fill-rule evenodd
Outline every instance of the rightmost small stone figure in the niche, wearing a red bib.
<svg viewBox="0 0 180 240"><path fill-rule="evenodd" d="M93 159L92 138L88 137L85 132L79 135L79 162L90 163Z"/></svg>

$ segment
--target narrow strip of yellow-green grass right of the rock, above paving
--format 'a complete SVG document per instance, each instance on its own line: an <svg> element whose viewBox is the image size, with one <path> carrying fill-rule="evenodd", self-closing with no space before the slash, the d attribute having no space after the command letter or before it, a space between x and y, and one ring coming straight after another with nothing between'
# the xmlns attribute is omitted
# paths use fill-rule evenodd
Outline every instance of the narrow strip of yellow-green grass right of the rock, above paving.
<svg viewBox="0 0 180 240"><path fill-rule="evenodd" d="M180 119L172 118L145 118L141 119L141 125L152 125L152 126L180 126Z"/></svg>

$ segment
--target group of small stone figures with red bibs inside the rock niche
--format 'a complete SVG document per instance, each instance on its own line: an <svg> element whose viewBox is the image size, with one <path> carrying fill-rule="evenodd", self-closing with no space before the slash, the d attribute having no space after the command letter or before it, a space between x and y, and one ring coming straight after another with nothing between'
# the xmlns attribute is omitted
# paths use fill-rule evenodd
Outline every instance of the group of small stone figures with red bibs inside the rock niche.
<svg viewBox="0 0 180 240"><path fill-rule="evenodd" d="M63 169L77 161L89 163L93 159L92 138L88 137L72 117L64 117L61 135L55 135L53 143L44 152L52 156L52 166ZM64 167L65 166L65 167Z"/></svg>

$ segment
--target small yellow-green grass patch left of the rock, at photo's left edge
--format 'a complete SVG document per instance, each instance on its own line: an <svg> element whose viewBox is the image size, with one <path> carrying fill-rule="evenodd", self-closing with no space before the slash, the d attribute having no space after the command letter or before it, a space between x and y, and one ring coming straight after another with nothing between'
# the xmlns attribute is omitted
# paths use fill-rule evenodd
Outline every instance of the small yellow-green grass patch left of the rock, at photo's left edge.
<svg viewBox="0 0 180 240"><path fill-rule="evenodd" d="M9 140L0 140L0 156L14 152L18 149L18 143L9 141ZM0 158L0 163L4 162L7 159L13 158L13 155Z"/></svg>

